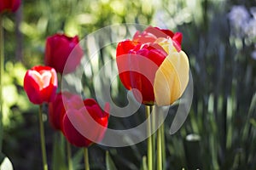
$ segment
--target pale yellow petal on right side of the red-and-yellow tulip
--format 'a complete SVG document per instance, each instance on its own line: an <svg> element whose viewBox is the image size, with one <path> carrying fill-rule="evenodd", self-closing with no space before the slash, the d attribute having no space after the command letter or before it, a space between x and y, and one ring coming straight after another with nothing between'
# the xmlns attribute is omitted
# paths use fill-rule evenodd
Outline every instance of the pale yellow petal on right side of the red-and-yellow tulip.
<svg viewBox="0 0 256 170"><path fill-rule="evenodd" d="M169 54L154 77L154 99L157 105L172 105L189 82L189 59L180 51Z"/></svg>

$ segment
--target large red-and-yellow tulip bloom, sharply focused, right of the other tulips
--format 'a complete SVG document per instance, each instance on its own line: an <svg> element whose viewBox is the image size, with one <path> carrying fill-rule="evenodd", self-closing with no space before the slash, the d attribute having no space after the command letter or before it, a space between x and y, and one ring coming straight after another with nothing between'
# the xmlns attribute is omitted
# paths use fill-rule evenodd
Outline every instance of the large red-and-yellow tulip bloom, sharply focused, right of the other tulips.
<svg viewBox="0 0 256 170"><path fill-rule="evenodd" d="M137 101L172 105L189 82L189 59L181 49L182 34L149 26L132 40L119 42L119 78Z"/></svg>

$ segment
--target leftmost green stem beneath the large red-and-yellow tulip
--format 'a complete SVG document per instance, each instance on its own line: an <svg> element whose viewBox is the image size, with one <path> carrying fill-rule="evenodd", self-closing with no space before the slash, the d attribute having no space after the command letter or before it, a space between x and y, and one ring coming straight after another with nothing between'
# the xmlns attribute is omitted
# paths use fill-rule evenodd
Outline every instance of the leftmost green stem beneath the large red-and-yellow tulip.
<svg viewBox="0 0 256 170"><path fill-rule="evenodd" d="M152 135L151 135L151 120L150 120L150 106L145 106L146 117L148 119L148 170L153 169L153 151L152 151Z"/></svg>

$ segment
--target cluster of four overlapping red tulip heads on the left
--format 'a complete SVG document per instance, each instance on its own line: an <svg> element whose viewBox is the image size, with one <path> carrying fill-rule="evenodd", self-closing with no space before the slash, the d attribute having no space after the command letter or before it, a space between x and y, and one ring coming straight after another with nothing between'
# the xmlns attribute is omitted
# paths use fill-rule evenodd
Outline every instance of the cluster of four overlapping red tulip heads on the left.
<svg viewBox="0 0 256 170"><path fill-rule="evenodd" d="M91 116L102 127L108 127L108 104L105 111L102 111L95 99L82 99L79 94L61 90L57 93L57 73L61 77L63 74L75 71L83 54L77 36L55 34L48 37L44 65L37 65L26 71L24 89L33 104L48 103L50 124L56 130L60 130L70 144L89 147L90 144L99 142L103 138L105 128L91 129L92 123L86 121L86 116ZM72 57L72 62L67 62L69 57ZM80 122L80 127L91 129L86 135L90 139L75 127L74 122L78 120L85 120Z"/></svg>

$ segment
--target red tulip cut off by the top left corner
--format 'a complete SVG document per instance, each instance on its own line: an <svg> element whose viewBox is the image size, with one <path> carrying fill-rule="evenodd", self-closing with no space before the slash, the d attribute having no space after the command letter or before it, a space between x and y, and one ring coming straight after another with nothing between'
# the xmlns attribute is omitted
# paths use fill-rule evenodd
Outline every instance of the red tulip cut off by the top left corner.
<svg viewBox="0 0 256 170"><path fill-rule="evenodd" d="M15 12L20 7L20 0L0 0L0 13Z"/></svg>

